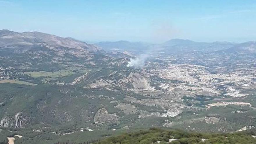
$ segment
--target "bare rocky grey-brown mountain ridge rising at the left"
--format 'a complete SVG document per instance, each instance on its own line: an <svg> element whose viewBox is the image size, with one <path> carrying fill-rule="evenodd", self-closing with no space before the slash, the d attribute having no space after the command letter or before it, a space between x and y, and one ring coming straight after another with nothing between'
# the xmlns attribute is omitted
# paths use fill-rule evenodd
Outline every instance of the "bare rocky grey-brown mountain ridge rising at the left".
<svg viewBox="0 0 256 144"><path fill-rule="evenodd" d="M95 54L104 54L101 48L75 40L74 38L63 38L42 32L14 32L9 30L0 31L0 48L9 49L13 52L25 51L51 51L58 56L70 54L74 57L91 59Z"/></svg>

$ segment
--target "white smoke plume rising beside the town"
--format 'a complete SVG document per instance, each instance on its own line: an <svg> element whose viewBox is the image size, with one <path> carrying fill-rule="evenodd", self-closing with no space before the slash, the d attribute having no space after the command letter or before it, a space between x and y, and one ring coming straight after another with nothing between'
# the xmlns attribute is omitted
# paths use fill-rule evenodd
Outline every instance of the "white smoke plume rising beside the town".
<svg viewBox="0 0 256 144"><path fill-rule="evenodd" d="M130 61L126 65L127 67L133 67L133 68L143 68L145 65L146 59L149 57L148 54L142 54L136 58L130 58Z"/></svg>

